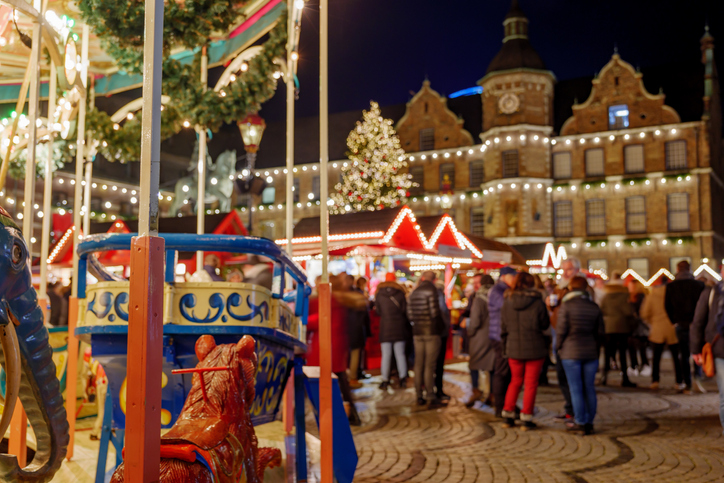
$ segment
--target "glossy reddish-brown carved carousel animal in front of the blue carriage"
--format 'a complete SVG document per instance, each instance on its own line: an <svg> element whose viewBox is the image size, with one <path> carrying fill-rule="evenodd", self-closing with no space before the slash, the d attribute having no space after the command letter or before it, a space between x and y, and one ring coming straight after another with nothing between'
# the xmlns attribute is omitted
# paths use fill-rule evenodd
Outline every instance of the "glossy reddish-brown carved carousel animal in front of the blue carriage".
<svg viewBox="0 0 724 483"><path fill-rule="evenodd" d="M281 464L277 448L258 448L249 412L257 369L255 342L245 335L237 344L216 345L203 335L196 341L199 363L191 391L173 427L161 438L159 482L258 483L264 470ZM121 483L124 465L111 483Z"/></svg>

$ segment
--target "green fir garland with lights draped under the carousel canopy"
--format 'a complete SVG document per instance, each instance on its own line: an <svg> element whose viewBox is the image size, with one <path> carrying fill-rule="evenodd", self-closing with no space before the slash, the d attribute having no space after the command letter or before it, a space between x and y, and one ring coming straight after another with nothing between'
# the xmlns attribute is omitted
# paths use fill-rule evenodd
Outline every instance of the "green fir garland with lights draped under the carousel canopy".
<svg viewBox="0 0 724 483"><path fill-rule="evenodd" d="M164 54L162 92L171 98L161 115L161 139L167 139L190 126L205 126L217 131L224 123L242 120L261 109L271 99L278 70L274 59L286 55L286 15L269 32L262 51L248 62L248 69L235 82L224 87L223 95L207 89L200 81L201 49L213 32L228 31L240 18L246 1L191 0L177 4L173 0L164 9ZM129 73L141 73L143 61L143 1L83 0L83 19L101 38L104 48L119 67ZM167 56L181 45L198 49L190 64ZM86 117L86 130L101 143L98 151L109 161L138 161L140 158L141 114L131 120L114 123L97 109Z"/></svg>

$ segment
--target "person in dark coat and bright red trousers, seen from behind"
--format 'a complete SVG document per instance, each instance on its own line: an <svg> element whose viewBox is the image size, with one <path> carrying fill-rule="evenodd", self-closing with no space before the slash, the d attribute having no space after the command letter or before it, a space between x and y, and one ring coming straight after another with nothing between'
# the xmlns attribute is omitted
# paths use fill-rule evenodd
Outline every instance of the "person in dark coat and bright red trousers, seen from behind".
<svg viewBox="0 0 724 483"><path fill-rule="evenodd" d="M548 357L548 344L543 332L550 326L550 320L543 296L535 289L533 275L526 272L518 274L513 289L505 292L500 320L500 335L511 373L503 406L504 427L515 425L515 403L525 384L523 408L520 411L520 419L523 421L521 429L534 429L533 411L538 379L543 362Z"/></svg>

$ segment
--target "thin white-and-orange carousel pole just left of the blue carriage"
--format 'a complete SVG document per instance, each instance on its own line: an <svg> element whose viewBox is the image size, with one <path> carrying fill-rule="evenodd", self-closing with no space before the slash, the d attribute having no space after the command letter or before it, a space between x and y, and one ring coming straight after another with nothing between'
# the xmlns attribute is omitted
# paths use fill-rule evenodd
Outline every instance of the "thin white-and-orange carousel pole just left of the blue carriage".
<svg viewBox="0 0 724 483"><path fill-rule="evenodd" d="M83 87L88 86L88 42L90 40L90 27L83 25L81 39L81 70L80 80ZM86 90L87 93L87 90ZM83 160L85 159L85 111L86 99L80 100L78 106L78 136L75 151L75 193L73 200L73 286L68 308L68 365L66 366L65 410L68 413L70 426L70 443L68 444L67 458L73 457L75 443L75 412L76 412L76 384L78 380L78 339L75 337L75 326L78 323L78 252L77 248L82 239L81 235L81 208L83 206Z"/></svg>

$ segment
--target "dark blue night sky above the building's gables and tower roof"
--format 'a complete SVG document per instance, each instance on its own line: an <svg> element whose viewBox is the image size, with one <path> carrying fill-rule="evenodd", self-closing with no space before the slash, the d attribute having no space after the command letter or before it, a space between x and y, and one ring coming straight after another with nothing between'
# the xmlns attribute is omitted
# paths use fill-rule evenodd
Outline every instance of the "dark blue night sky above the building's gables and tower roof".
<svg viewBox="0 0 724 483"><path fill-rule="evenodd" d="M297 116L318 113L318 0L303 14ZM329 108L363 109L407 102L427 77L443 95L483 77L503 38L509 0L331 0ZM559 80L591 76L614 44L638 67L700 58L708 20L724 68L722 0L520 0L531 43ZM676 75L672 72L672 75ZM260 113L284 118L285 90Z"/></svg>

